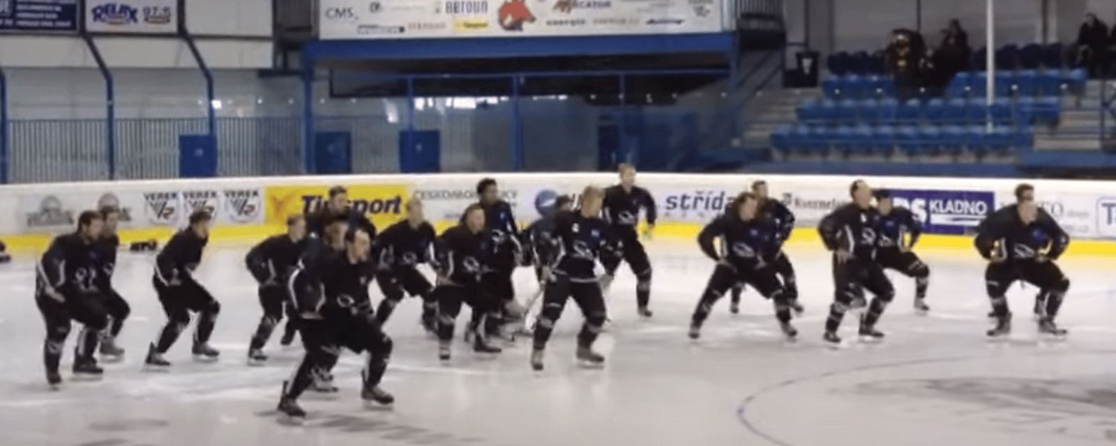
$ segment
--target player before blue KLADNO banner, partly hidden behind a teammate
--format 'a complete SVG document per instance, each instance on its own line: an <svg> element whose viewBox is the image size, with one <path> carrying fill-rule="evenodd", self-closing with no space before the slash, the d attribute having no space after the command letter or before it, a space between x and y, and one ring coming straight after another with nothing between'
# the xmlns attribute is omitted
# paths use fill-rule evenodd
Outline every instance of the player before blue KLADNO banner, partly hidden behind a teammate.
<svg viewBox="0 0 1116 446"><path fill-rule="evenodd" d="M914 309L926 313L926 288L930 287L930 266L918 255L911 252L922 235L922 225L910 210L895 206L892 194L876 191L876 210L879 221L876 226L876 262L885 270L895 270L914 278Z"/></svg>

